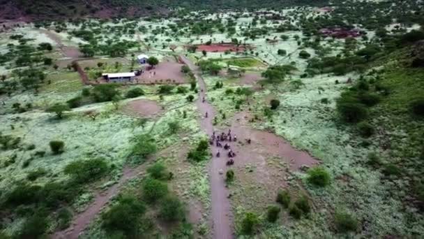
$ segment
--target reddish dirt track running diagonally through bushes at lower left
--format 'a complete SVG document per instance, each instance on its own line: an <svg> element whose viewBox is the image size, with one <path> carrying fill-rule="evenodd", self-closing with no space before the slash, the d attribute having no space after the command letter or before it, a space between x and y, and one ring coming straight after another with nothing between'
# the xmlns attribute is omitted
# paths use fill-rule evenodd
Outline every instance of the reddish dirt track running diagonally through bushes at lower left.
<svg viewBox="0 0 424 239"><path fill-rule="evenodd" d="M77 239L79 234L89 226L98 213L105 208L107 203L109 203L109 201L119 193L119 189L121 189L123 184L132 178L142 175L145 168L146 164L142 164L137 168L124 168L123 175L119 179L118 183L109 187L106 191L98 192L94 197L93 203L91 203L84 212L73 218L72 224L68 229L54 233L51 238Z"/></svg>

